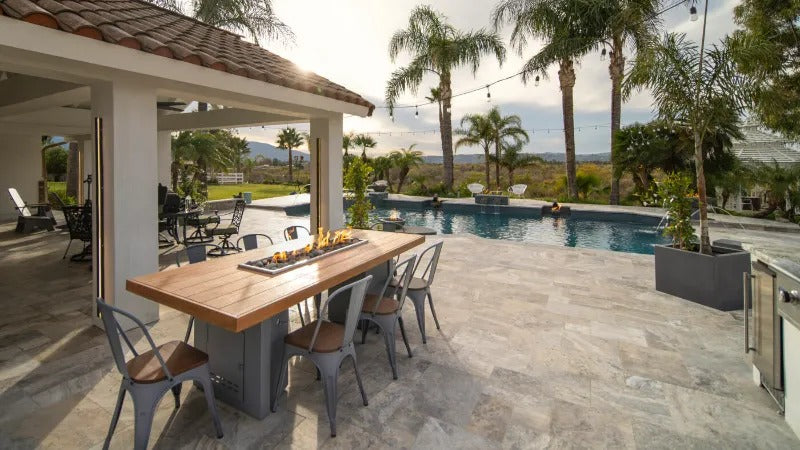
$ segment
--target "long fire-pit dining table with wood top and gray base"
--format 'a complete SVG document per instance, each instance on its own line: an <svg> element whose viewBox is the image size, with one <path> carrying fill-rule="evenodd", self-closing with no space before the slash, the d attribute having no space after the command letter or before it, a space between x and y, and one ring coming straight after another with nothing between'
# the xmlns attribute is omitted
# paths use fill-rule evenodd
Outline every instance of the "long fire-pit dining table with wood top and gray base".
<svg viewBox="0 0 800 450"><path fill-rule="evenodd" d="M261 419L269 414L279 379L289 308L350 280L372 274L373 287L389 276L389 261L425 241L420 235L356 230L367 242L279 274L239 264L304 247L298 239L173 270L129 279L128 291L195 317L194 345L209 355L217 398ZM331 304L329 318L346 304ZM286 378L284 378L286 379Z"/></svg>

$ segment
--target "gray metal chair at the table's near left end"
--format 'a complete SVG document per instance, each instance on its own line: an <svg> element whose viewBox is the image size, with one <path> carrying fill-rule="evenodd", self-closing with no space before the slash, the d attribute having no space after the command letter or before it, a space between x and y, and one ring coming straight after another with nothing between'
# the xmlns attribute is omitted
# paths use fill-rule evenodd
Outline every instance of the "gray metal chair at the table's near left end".
<svg viewBox="0 0 800 450"><path fill-rule="evenodd" d="M107 449L111 443L111 436L117 427L122 403L127 392L133 398L134 408L134 443L135 449L146 449L150 439L150 429L153 425L153 416L161 398L172 391L175 397L175 408L180 407L180 386L184 381L196 381L203 387L211 419L217 438L222 438L222 423L217 414L214 403L214 387L211 384L211 373L208 369L208 355L181 341L172 341L156 346L147 327L133 314L106 304L103 299L97 299L97 310L103 319L103 325L108 335L108 343L117 369L122 374L122 384L119 387L117 405L111 418L103 448ZM115 314L119 314L131 321L141 329L150 350L138 353L131 343L130 338L117 322ZM125 361L122 342L127 344L133 358Z"/></svg>

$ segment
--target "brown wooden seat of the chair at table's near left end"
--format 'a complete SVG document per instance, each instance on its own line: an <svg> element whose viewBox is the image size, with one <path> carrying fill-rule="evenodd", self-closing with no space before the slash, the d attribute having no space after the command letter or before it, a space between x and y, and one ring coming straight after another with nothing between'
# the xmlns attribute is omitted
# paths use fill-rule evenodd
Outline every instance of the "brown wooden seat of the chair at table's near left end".
<svg viewBox="0 0 800 450"><path fill-rule="evenodd" d="M208 362L207 354L181 341L160 345L158 351L172 376L188 372ZM134 357L126 365L131 379L137 383L158 383L167 379L153 350Z"/></svg>

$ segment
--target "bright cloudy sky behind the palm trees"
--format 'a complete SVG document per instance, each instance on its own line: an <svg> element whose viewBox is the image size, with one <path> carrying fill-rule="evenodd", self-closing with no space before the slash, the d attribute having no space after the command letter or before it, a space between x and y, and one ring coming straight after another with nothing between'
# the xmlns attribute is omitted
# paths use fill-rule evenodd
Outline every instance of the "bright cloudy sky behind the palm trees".
<svg viewBox="0 0 800 450"><path fill-rule="evenodd" d="M665 0L669 6L677 0ZM275 42L261 45L300 67L316 72L348 89L361 94L376 106L385 106L386 81L396 68L409 61L407 54L395 63L389 59L388 45L392 34L408 24L408 16L419 0L272 0L277 15L288 24L296 35L293 45L284 46ZM444 14L449 22L461 30L490 28L490 14L497 0L438 0L430 5ZM733 8L737 0L716 0L709 4L706 42L718 42L735 29ZM469 5L469 6L466 6ZM698 9L701 10L700 5ZM700 20L689 20L689 6L682 4L661 16L663 30L686 33L689 39L699 42L702 31ZM510 29L500 30L508 48ZM518 73L523 63L541 47L534 41L518 55L509 49L502 67L494 58L486 57L476 74L468 68L454 72L454 93L485 86L492 81ZM630 52L628 61L631 60ZM602 61L600 53L584 57L576 67L577 81L574 90L576 152L579 154L608 152L610 146L611 82L608 77L608 61ZM435 76L426 76L419 92L407 93L397 101L398 105L426 103L424 97L438 83ZM498 106L503 114L518 114L523 127L531 130L531 142L526 152L563 152L564 136L561 132L561 92L558 87L557 68L549 70L549 77L539 86L524 85L520 77L493 85L491 103L487 102L486 90L453 99L454 126L465 114L485 113ZM651 98L645 92L637 93L622 107L622 124L646 122L653 117ZM239 129L248 140L275 143L280 126ZM307 125L296 125L307 130ZM345 117L344 132L371 133L378 146L369 151L376 156L398 148L416 144L416 149L426 155L440 155L441 143L438 134L436 105L419 107L419 117L414 109L396 110L394 122L386 109L376 108L372 117ZM549 129L549 131L548 131ZM414 132L413 134L411 132ZM378 134L380 133L380 134ZM481 153L475 148L458 149L459 154Z"/></svg>

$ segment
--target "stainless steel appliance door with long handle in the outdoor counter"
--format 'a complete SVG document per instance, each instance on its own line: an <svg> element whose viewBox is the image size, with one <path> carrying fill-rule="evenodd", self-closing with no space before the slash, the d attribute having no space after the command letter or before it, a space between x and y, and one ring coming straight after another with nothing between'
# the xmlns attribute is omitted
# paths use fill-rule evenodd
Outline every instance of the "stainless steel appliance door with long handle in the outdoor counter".
<svg viewBox="0 0 800 450"><path fill-rule="evenodd" d="M776 271L754 261L752 272L744 273L745 353L761 375L761 385L784 408L781 320L778 316Z"/></svg>

